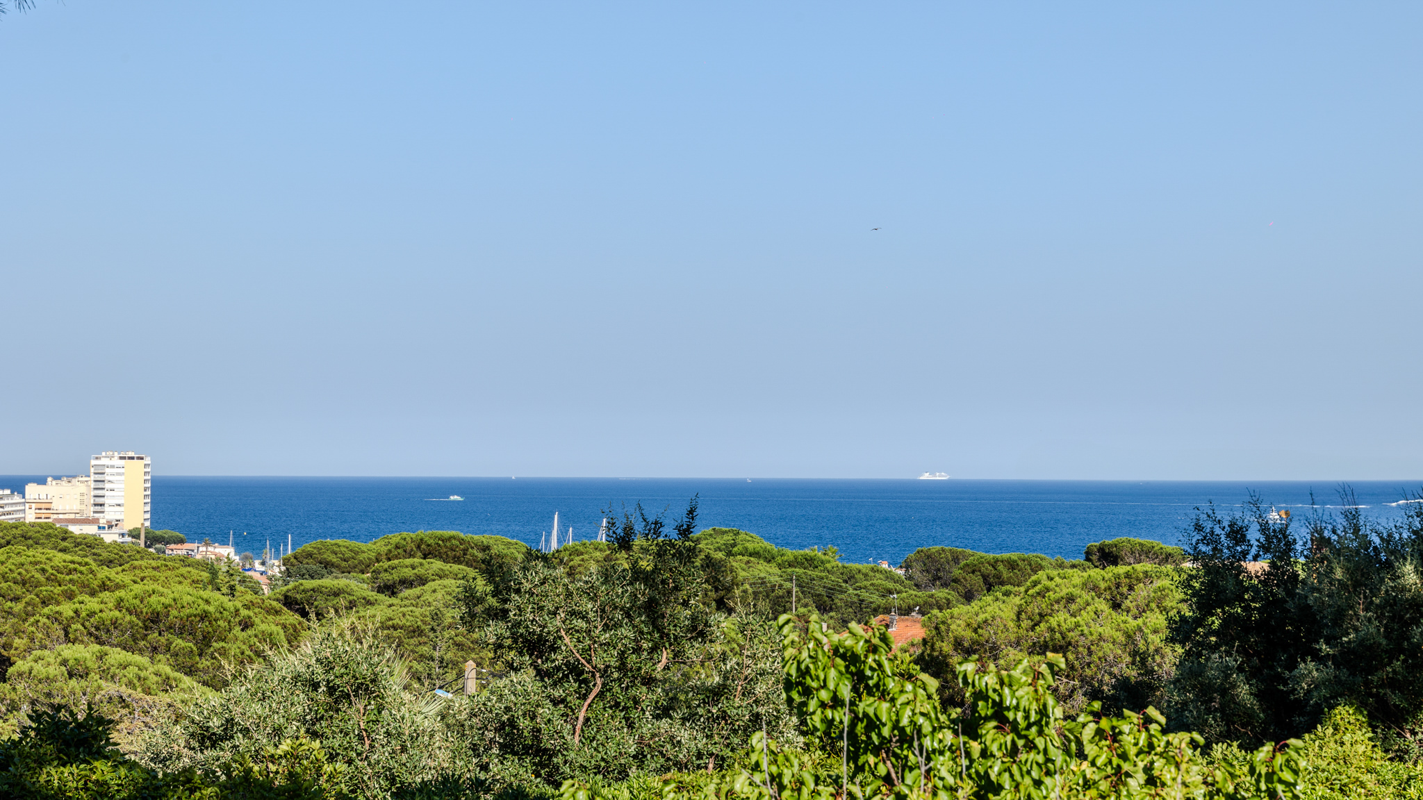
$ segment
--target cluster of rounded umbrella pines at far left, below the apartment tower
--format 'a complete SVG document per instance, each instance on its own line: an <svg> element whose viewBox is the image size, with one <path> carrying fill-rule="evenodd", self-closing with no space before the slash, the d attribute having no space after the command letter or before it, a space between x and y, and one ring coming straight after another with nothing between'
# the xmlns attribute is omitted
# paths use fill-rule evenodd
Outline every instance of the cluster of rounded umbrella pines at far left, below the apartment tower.
<svg viewBox="0 0 1423 800"><path fill-rule="evenodd" d="M235 569L50 524L0 524L0 736L36 703L92 700L124 740L305 629Z"/></svg>

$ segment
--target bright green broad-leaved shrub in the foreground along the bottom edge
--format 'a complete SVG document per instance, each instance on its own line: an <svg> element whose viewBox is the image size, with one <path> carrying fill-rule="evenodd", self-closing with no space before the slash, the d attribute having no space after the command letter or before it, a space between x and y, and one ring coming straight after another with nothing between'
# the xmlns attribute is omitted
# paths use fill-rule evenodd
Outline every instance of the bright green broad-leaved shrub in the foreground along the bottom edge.
<svg viewBox="0 0 1423 800"><path fill-rule="evenodd" d="M781 616L785 696L805 747L757 730L733 774L598 787L569 780L565 800L1147 800L1298 799L1302 743L1210 759L1192 733L1167 733L1155 709L1069 716L1049 686L1062 659L1009 670L961 663L968 702L946 710L938 682L906 672L881 628L804 631ZM643 780L646 783L646 780ZM660 786L657 786L660 783ZM636 793L636 794L635 794Z"/></svg>

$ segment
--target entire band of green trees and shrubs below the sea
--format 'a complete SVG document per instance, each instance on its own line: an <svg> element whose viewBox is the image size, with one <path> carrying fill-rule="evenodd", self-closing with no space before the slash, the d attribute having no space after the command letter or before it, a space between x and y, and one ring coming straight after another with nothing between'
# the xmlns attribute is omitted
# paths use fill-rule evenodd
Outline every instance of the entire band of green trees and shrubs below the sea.
<svg viewBox="0 0 1423 800"><path fill-rule="evenodd" d="M1296 535L1255 500L1201 511L1184 551L896 571L697 532L693 501L551 554L313 542L266 596L231 564L0 524L0 800L1419 799L1407 508ZM862 626L892 609L925 638Z"/></svg>

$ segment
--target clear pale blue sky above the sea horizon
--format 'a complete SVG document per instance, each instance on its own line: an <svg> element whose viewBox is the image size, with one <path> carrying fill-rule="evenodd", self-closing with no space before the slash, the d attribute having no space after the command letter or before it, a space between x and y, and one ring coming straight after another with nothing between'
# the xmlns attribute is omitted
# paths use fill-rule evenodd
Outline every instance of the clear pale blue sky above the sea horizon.
<svg viewBox="0 0 1423 800"><path fill-rule="evenodd" d="M1420 34L38 0L0 474L1423 478Z"/></svg>

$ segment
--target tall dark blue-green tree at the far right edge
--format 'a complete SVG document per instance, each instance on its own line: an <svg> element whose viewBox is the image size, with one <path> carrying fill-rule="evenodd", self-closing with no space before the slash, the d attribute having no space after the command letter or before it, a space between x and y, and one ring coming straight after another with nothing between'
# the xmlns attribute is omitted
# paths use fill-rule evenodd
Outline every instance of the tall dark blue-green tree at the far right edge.
<svg viewBox="0 0 1423 800"><path fill-rule="evenodd" d="M1389 525L1348 491L1342 505L1305 520L1303 535L1259 497L1197 515L1170 702L1183 726L1211 740L1282 739L1352 705L1417 757L1423 502Z"/></svg>

